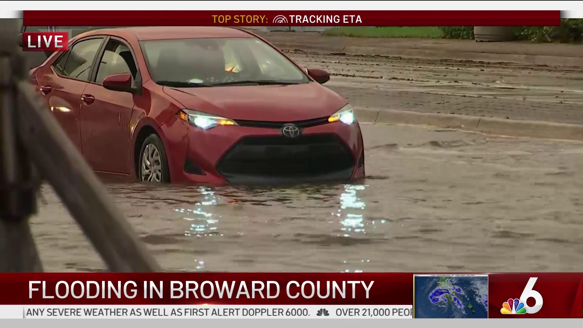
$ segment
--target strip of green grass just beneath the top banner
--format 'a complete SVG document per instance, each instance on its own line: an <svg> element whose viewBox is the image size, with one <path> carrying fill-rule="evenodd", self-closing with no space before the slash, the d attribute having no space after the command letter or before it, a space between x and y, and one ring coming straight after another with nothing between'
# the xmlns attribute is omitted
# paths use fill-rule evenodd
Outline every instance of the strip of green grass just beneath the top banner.
<svg viewBox="0 0 583 328"><path fill-rule="evenodd" d="M326 36L354 37L423 37L441 38L443 33L437 26L405 26L405 27L375 27L375 26L345 26L332 27L324 31Z"/></svg>

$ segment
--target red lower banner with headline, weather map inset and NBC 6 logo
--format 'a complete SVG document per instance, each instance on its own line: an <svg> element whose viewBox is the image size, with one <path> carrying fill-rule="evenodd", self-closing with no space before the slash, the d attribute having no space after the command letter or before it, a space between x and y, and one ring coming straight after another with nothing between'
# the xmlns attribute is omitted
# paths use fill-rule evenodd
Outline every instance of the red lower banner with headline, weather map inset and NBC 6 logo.
<svg viewBox="0 0 583 328"><path fill-rule="evenodd" d="M412 306L417 318L583 317L583 273L0 273L0 288L4 306Z"/></svg>

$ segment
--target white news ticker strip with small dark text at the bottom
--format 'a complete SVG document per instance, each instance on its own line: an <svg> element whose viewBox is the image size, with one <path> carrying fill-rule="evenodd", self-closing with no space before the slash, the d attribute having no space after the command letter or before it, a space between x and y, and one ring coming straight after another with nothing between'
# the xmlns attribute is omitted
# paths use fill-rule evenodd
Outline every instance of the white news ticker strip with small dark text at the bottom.
<svg viewBox="0 0 583 328"><path fill-rule="evenodd" d="M412 319L411 305L0 305L0 319Z"/></svg>

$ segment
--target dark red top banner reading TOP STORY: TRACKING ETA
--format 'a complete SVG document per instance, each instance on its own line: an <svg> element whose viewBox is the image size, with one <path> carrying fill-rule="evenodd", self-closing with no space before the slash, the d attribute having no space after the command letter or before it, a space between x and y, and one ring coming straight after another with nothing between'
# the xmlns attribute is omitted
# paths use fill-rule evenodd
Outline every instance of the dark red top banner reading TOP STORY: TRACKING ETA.
<svg viewBox="0 0 583 328"><path fill-rule="evenodd" d="M560 11L24 11L27 26L559 26Z"/></svg>

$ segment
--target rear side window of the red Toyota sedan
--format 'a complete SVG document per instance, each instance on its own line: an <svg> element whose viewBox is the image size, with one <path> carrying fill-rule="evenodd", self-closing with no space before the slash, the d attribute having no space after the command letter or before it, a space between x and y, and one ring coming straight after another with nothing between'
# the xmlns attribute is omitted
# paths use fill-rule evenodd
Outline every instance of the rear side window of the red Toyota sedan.
<svg viewBox="0 0 583 328"><path fill-rule="evenodd" d="M93 58L101 46L103 39L89 39L76 43L66 59L62 75L82 81L89 81L89 72Z"/></svg>

